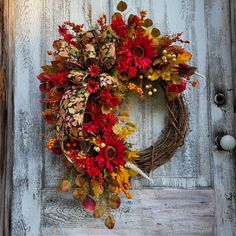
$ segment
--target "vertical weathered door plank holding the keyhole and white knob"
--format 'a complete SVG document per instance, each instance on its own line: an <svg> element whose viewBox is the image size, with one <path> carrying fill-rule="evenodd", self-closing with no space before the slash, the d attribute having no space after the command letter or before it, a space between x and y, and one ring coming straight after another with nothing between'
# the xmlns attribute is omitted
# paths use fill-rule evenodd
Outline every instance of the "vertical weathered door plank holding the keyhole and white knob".
<svg viewBox="0 0 236 236"><path fill-rule="evenodd" d="M231 64L231 30L229 1L206 1L208 38L208 81L210 84L212 137L218 132L234 133L233 81ZM217 107L214 96L219 91L226 96L226 104ZM213 145L213 181L216 198L215 234L235 235L235 155L218 151Z"/></svg>

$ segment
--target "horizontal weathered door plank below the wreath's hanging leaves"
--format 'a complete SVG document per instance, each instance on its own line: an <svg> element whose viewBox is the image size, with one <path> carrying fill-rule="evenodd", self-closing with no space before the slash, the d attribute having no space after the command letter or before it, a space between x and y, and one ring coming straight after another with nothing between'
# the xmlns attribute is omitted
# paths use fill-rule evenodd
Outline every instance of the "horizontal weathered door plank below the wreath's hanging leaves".
<svg viewBox="0 0 236 236"><path fill-rule="evenodd" d="M114 230L83 211L79 203L52 189L43 191L42 235L213 235L213 190L133 191L115 213Z"/></svg>

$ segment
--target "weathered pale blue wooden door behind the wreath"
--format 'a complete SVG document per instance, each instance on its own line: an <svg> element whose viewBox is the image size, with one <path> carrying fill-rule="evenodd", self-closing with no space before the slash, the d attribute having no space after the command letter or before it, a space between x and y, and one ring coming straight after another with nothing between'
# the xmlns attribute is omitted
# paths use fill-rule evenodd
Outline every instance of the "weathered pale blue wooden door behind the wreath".
<svg viewBox="0 0 236 236"><path fill-rule="evenodd" d="M185 145L175 157L151 173L154 184L134 181L134 199L123 200L116 227L85 213L70 195L57 192L62 167L50 156L42 137L36 75L48 62L47 50L65 20L85 23L115 11L118 0L15 0L14 6L14 155L11 234L23 235L222 235L235 225L235 157L218 151L218 132L233 134L232 35L235 5L229 0L129 0L130 11L148 10L163 33L185 32L192 42L192 64L206 75L197 89L186 92L190 112ZM12 53L12 52L11 52ZM218 107L214 95L227 102ZM163 97L136 101L133 137L149 146L165 126Z"/></svg>

